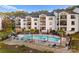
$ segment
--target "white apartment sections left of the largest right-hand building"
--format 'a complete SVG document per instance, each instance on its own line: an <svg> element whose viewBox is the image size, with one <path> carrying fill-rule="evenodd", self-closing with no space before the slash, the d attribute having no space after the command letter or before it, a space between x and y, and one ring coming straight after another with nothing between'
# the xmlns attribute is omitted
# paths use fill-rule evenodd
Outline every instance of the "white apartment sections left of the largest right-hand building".
<svg viewBox="0 0 79 59"><path fill-rule="evenodd" d="M56 17L45 14L39 17L26 16L25 18L17 17L15 19L15 27L20 29L38 29L41 32L47 32L50 29L57 30Z"/></svg>

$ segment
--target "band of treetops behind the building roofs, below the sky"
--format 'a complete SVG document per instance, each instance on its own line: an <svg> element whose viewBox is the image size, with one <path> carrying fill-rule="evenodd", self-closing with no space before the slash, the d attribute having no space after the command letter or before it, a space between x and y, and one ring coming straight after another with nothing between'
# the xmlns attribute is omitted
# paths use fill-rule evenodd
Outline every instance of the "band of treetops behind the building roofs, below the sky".
<svg viewBox="0 0 79 59"><path fill-rule="evenodd" d="M15 11L15 12L0 12L0 15L2 16L9 16L9 17L25 17L27 15L30 15L30 16L39 16L40 14L51 14L53 11L62 11L62 10L73 10L74 8L79 8L79 5L76 5L76 6L70 6L66 9L55 9L55 10L52 10L51 12L47 11L47 10L40 10L40 11L35 11L35 12L27 12L27 11ZM53 14L51 14L53 15Z"/></svg>

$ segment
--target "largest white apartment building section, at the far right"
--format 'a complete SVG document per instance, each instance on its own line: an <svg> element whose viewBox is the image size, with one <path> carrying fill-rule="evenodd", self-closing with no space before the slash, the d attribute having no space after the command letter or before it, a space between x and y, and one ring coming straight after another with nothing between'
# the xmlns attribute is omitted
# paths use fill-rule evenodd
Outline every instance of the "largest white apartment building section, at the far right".
<svg viewBox="0 0 79 59"><path fill-rule="evenodd" d="M79 31L79 14L72 11L61 11L58 13L58 29L64 30L66 34Z"/></svg>

